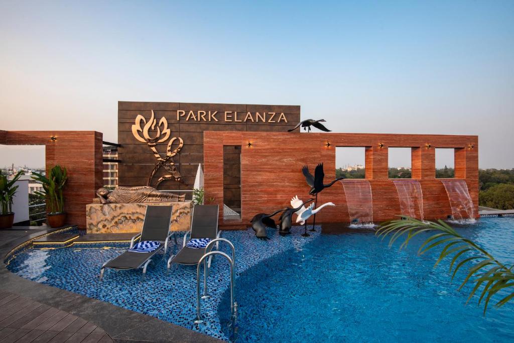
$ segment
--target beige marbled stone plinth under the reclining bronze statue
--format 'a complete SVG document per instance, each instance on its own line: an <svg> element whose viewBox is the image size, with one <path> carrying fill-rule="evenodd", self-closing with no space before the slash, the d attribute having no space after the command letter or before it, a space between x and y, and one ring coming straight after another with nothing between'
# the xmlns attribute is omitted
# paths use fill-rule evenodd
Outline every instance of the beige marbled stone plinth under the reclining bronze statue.
<svg viewBox="0 0 514 343"><path fill-rule="evenodd" d="M192 202L152 204L89 204L86 206L87 233L141 232L146 206L173 206L170 231L189 231Z"/></svg>

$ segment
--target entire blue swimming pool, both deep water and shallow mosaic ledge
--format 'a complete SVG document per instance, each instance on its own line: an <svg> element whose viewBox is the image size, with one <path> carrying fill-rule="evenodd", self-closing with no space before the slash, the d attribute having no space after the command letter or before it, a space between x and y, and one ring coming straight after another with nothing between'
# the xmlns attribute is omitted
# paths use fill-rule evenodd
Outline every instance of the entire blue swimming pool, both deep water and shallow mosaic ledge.
<svg viewBox="0 0 514 343"><path fill-rule="evenodd" d="M514 219L484 218L459 230L501 261L514 263ZM236 247L237 338L241 342L306 341L508 341L514 340L514 304L490 306L486 317L476 301L464 305L469 288L456 291L448 262L435 269L434 253L417 256L423 238L406 250L388 247L369 231L300 236L301 227L269 241L253 231L228 231ZM180 241L179 241L179 245ZM228 268L213 263L212 298L202 302L205 324L193 323L196 269L165 260L140 270L99 268L124 247L27 249L8 268L33 281L111 302L221 339L228 322ZM172 253L178 247L173 246ZM225 248L223 248L225 251ZM221 260L219 260L221 261Z"/></svg>

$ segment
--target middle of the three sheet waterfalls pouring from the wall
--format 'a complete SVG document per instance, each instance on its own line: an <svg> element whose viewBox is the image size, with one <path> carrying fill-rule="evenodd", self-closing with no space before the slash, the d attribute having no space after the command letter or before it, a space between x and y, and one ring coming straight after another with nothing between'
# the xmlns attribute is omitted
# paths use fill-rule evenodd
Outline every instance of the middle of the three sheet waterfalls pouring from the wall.
<svg viewBox="0 0 514 343"><path fill-rule="evenodd" d="M393 180L401 215L410 216L423 221L423 191L418 180Z"/></svg>

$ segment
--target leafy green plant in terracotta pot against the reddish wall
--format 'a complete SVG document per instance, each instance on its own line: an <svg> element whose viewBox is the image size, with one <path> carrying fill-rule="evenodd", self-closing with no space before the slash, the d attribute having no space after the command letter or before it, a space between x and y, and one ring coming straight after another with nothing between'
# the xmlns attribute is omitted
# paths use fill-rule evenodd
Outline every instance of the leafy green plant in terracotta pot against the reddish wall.
<svg viewBox="0 0 514 343"><path fill-rule="evenodd" d="M34 192L46 200L47 222L50 227L61 227L66 223L63 188L68 179L66 168L57 165L50 169L48 177L32 173L32 178L43 185L43 191Z"/></svg>

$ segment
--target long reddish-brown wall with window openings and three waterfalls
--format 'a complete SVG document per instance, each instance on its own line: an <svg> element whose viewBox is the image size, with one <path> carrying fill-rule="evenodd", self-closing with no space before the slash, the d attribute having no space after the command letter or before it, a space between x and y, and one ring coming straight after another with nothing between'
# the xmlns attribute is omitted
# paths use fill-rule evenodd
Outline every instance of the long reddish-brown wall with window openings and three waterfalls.
<svg viewBox="0 0 514 343"><path fill-rule="evenodd" d="M389 220L400 213L396 188L387 177L388 147L411 147L413 177L423 189L426 219L446 219L451 214L446 190L435 178L435 148L457 148L455 169L466 180L475 208L478 209L478 137L454 135L395 135L340 133L259 133L205 132L206 198L223 205L223 145L242 148L242 226L256 213L270 213L289 205L290 197L306 200L309 187L301 168L308 165L311 173L319 162L324 163L325 179L335 178L335 147L368 147L366 149L366 179L373 193L375 222ZM252 148L246 143L252 142ZM326 147L326 142L331 147ZM379 148L378 144L383 147ZM426 144L431 148L427 149ZM469 144L473 143L473 149ZM457 157L458 155L458 157ZM371 165L369 165L371 164ZM341 183L321 192L318 204L331 201L317 219L325 223L349 222L346 197ZM223 223L223 218L220 218Z"/></svg>

